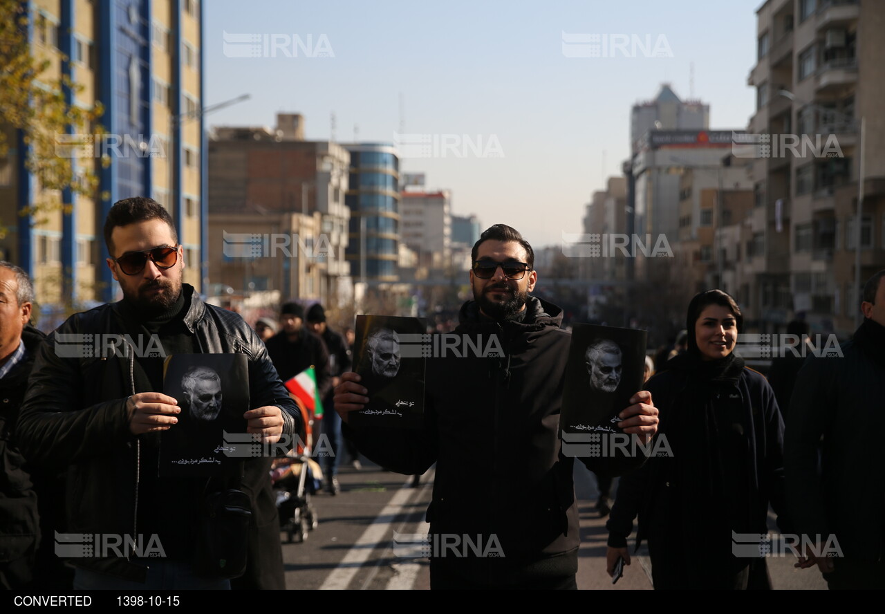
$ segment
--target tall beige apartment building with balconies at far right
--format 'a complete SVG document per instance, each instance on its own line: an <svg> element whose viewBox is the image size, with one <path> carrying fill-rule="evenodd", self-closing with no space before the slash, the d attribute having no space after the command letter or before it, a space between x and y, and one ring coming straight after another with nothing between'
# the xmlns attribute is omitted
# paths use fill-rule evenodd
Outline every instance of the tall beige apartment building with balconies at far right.
<svg viewBox="0 0 885 614"><path fill-rule="evenodd" d="M770 148L752 160L753 303L769 322L804 313L812 331L848 335L858 194L861 283L885 265L885 3L768 0L757 17L748 132Z"/></svg>

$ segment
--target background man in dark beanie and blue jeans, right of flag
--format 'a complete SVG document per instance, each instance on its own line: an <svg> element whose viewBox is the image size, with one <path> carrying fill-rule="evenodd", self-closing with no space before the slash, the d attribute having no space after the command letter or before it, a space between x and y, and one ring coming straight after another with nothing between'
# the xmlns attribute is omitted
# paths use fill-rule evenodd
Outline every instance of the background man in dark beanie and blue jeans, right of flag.
<svg viewBox="0 0 885 614"><path fill-rule="evenodd" d="M329 392L323 397L323 411L325 413L322 427L323 433L326 434L332 446L332 456L323 458L323 472L326 474L328 493L337 495L341 492L341 487L338 486L338 463L342 452L341 417L335 413L335 403L332 400L335 394L332 388L338 385L339 376L343 372L350 371L350 352L347 351L347 342L344 341L344 338L326 324L326 311L321 304L313 304L307 310L307 327L326 343L329 351L329 374L332 382Z"/></svg>

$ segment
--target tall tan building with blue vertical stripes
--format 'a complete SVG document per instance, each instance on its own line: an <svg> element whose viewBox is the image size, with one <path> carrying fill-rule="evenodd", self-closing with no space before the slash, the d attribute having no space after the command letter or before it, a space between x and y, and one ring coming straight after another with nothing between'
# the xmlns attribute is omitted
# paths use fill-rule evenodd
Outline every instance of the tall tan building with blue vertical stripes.
<svg viewBox="0 0 885 614"><path fill-rule="evenodd" d="M49 193L26 165L22 134L11 134L9 180L0 184L7 234L0 248L36 280L39 302L82 306L119 297L104 263L102 228L116 201L150 196L171 212L184 247L184 280L202 288L204 252L203 4L198 0L28 0L27 35L46 81L62 77L70 104L104 107L104 134L56 134L56 155L99 180L94 198ZM97 133L97 131L96 131ZM65 205L19 216L34 203Z"/></svg>

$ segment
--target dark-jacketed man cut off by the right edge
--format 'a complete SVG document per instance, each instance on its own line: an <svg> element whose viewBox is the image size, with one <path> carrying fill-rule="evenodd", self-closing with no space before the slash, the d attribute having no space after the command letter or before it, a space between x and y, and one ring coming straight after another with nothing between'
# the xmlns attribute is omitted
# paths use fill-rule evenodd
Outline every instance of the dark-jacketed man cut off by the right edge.
<svg viewBox="0 0 885 614"><path fill-rule="evenodd" d="M885 269L867 280L864 321L835 356L799 371L784 441L787 503L796 532L842 556L809 552L830 588L885 587L885 472L869 426L885 399Z"/></svg>

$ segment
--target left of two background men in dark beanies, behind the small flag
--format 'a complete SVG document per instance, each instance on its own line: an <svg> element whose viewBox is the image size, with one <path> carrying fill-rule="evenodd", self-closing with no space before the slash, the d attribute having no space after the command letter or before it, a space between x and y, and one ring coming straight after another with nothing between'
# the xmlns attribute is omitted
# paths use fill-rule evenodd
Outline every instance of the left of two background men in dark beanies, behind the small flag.
<svg viewBox="0 0 885 614"><path fill-rule="evenodd" d="M326 344L304 327L304 307L285 303L280 310L281 331L265 342L280 379L291 380L308 367L316 370L319 398L332 388Z"/></svg>

